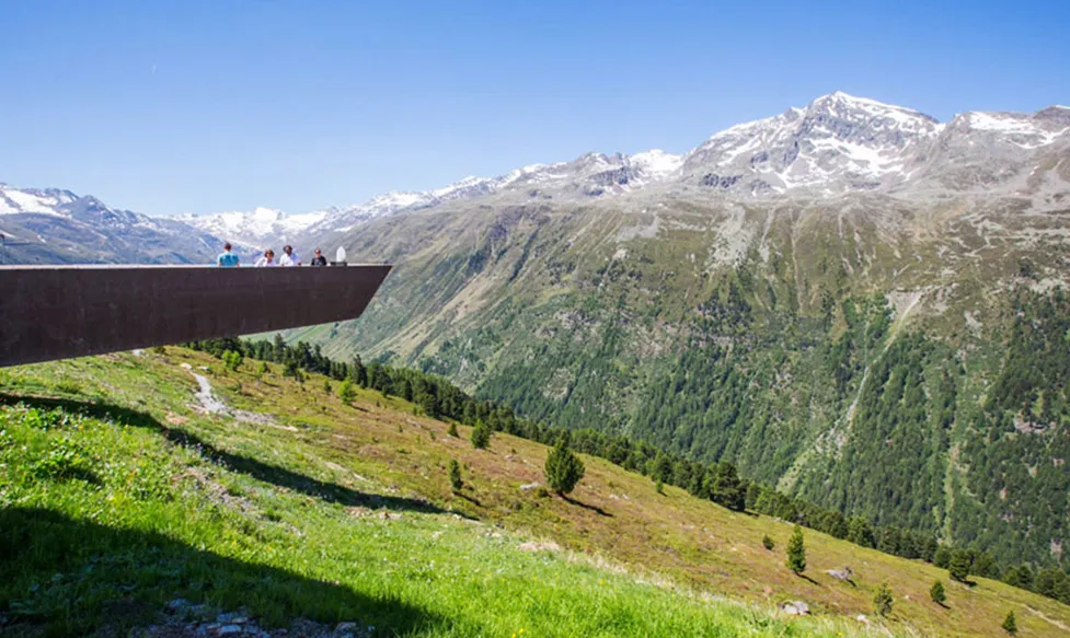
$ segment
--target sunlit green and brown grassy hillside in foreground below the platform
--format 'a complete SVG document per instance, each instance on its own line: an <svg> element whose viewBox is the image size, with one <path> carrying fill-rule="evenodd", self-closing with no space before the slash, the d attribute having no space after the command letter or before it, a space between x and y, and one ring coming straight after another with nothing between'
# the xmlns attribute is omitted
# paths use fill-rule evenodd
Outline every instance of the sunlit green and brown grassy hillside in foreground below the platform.
<svg viewBox="0 0 1070 638"><path fill-rule="evenodd" d="M0 371L2 630L122 629L176 598L384 635L996 637L1012 610L1024 636L1070 627L1054 601L816 532L796 577L786 524L598 459L572 500L521 489L543 480L543 445L473 450L468 428L450 437L401 399L344 405L324 378L280 372L172 348ZM194 373L226 411L202 407ZM825 572L845 565L853 584ZM882 582L887 620L872 617ZM775 612L790 600L815 617Z"/></svg>

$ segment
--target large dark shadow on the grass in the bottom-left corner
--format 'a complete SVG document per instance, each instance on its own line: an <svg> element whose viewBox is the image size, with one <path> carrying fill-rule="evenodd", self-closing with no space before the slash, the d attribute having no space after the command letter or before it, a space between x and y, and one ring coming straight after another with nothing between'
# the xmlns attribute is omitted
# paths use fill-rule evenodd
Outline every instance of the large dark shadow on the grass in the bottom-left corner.
<svg viewBox="0 0 1070 638"><path fill-rule="evenodd" d="M153 532L50 510L0 510L3 635L123 635L157 622L176 598L248 612L268 625L355 622L392 634L436 634L448 622L390 599L196 549Z"/></svg>

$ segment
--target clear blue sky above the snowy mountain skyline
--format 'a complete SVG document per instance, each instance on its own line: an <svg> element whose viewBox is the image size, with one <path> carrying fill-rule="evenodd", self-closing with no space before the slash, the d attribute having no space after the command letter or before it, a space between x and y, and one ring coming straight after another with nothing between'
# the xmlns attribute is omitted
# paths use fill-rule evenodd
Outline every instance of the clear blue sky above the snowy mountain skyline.
<svg viewBox="0 0 1070 638"><path fill-rule="evenodd" d="M941 120L1070 103L1062 0L12 0L2 15L0 182L151 214L680 153L835 90Z"/></svg>

